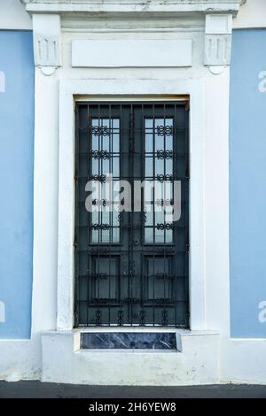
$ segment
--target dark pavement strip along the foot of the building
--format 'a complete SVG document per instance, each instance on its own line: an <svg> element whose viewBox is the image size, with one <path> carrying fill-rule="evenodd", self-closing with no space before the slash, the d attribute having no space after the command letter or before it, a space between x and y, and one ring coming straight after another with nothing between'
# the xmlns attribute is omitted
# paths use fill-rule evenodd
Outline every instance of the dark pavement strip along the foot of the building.
<svg viewBox="0 0 266 416"><path fill-rule="evenodd" d="M0 398L266 398L266 385L189 387L80 386L0 381Z"/></svg>

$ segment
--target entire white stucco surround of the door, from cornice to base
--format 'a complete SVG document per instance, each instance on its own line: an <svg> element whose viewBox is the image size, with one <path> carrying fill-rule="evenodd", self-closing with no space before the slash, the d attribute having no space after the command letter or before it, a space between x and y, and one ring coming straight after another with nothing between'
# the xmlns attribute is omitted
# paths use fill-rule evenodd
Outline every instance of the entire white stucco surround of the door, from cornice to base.
<svg viewBox="0 0 266 416"><path fill-rule="evenodd" d="M33 19L36 65L32 337L0 341L0 378L150 385L266 382L265 340L230 337L228 64L231 17L240 0L23 3ZM93 19L90 12L96 13ZM212 53L217 37L226 48L223 56ZM42 53L43 39L48 53ZM85 40L176 45L191 40L192 65L178 65L176 59L176 67L115 67L114 56L107 66L74 67L72 44ZM86 48L83 53L90 61ZM191 331L177 331L181 353L80 351L79 331L73 330L74 99L178 95L190 96Z"/></svg>

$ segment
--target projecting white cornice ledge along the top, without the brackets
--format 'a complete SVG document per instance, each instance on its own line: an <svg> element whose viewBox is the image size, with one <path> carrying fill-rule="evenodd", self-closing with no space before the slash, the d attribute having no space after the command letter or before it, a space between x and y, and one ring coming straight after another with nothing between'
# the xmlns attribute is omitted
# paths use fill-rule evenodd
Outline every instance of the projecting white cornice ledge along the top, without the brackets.
<svg viewBox="0 0 266 416"><path fill-rule="evenodd" d="M33 13L189 13L239 12L246 0L21 0Z"/></svg>

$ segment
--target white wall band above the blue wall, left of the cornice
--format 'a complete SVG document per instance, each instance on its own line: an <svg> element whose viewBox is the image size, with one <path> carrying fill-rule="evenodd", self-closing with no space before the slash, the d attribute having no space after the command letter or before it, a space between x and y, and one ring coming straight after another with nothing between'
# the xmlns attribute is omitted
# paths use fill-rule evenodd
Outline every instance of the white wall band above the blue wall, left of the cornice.
<svg viewBox="0 0 266 416"><path fill-rule="evenodd" d="M0 30L30 30L32 22L20 0L0 2Z"/></svg>

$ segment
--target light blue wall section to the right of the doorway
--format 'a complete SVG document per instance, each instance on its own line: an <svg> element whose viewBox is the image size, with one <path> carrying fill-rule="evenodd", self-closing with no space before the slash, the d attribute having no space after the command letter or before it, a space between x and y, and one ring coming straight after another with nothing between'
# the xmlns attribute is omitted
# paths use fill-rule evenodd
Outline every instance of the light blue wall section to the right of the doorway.
<svg viewBox="0 0 266 416"><path fill-rule="evenodd" d="M230 120L231 335L243 338L266 338L265 50L266 29L233 32Z"/></svg>

